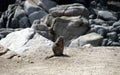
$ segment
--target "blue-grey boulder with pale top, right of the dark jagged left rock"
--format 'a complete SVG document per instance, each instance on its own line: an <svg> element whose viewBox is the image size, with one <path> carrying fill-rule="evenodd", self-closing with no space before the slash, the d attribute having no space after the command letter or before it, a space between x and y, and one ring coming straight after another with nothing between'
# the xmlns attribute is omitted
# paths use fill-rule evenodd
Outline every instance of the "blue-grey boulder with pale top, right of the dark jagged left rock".
<svg viewBox="0 0 120 75"><path fill-rule="evenodd" d="M32 24L34 20L41 19L43 16L47 15L47 11L38 5L40 0L26 0L24 3L24 10L28 14L30 23Z"/></svg>

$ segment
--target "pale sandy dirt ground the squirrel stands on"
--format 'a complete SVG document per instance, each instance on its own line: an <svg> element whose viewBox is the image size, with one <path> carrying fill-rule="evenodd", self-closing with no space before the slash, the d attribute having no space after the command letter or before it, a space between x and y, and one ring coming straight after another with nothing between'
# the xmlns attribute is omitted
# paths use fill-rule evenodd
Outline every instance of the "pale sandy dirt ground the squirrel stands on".
<svg viewBox="0 0 120 75"><path fill-rule="evenodd" d="M38 48L26 57L0 57L0 75L120 75L120 47L65 48L69 57L53 57Z"/></svg>

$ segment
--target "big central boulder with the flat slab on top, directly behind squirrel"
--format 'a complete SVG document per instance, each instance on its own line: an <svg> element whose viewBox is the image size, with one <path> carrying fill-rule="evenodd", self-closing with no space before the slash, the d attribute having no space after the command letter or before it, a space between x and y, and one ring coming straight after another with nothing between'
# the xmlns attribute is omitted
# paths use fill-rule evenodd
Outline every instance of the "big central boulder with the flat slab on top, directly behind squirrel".
<svg viewBox="0 0 120 75"><path fill-rule="evenodd" d="M82 4L61 5L50 9L42 22L50 27L53 41L64 36L65 41L85 34L89 29L88 10Z"/></svg>

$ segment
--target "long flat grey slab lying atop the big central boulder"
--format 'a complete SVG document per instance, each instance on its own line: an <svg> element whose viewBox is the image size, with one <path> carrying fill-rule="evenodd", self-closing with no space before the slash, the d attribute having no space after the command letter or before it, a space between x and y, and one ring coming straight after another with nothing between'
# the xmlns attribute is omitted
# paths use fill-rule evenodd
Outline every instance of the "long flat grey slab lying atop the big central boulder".
<svg viewBox="0 0 120 75"><path fill-rule="evenodd" d="M89 12L82 4L60 5L50 9L50 13L54 17L60 16L84 16L89 18Z"/></svg>

